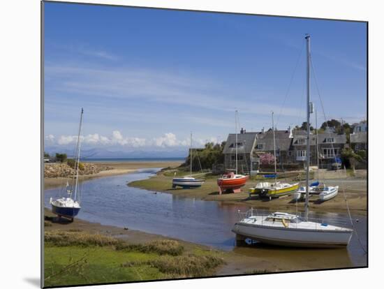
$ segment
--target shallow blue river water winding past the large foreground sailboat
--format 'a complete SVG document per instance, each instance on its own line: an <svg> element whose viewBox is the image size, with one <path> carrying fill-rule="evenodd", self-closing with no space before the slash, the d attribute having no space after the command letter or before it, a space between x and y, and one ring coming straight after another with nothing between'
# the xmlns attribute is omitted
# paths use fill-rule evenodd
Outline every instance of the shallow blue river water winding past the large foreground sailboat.
<svg viewBox="0 0 384 289"><path fill-rule="evenodd" d="M330 267L334 262L346 264L346 267L349 267L348 263L351 266L367 265L367 255L364 254L355 235L348 249L283 249L263 245L252 246L252 248L236 247L235 234L231 232L232 225L239 220L237 210L244 212L249 207L183 198L168 193L154 193L126 185L130 181L150 177L156 170L141 170L128 175L83 181L81 184L82 209L77 217L103 225L116 225L175 237L227 251L235 250L244 255L265 255L271 260L294 258L297 262L308 262L308 260L320 262L325 259L330 261ZM45 207L50 207L51 197L57 198L64 195L64 186L45 190ZM335 214L321 215L325 220L334 216ZM355 228L366 248L367 218L364 216L353 218L360 220L355 223Z"/></svg>

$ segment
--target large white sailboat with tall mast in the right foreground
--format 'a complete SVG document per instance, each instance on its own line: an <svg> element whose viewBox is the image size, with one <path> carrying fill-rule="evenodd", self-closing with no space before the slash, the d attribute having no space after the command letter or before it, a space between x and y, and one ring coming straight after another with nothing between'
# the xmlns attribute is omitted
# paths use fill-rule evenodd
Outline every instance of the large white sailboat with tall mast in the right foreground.
<svg viewBox="0 0 384 289"><path fill-rule="evenodd" d="M307 40L307 179L304 218L297 214L274 212L253 214L253 209L245 218L235 223L232 232L240 238L251 238L259 242L279 246L337 247L348 246L353 230L323 221L311 220L309 212L309 119L310 119L310 36Z"/></svg>

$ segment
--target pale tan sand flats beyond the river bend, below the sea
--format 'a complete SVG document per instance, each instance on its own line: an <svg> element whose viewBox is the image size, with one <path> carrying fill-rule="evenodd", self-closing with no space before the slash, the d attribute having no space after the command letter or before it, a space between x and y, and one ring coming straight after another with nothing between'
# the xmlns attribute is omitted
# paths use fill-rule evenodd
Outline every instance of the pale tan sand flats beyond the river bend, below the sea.
<svg viewBox="0 0 384 289"><path fill-rule="evenodd" d="M110 167L112 170L102 170L92 175L80 176L80 181L88 179L96 179L98 177L112 177L115 175L124 175L145 168L174 168L179 166L182 161L134 161L134 162L97 162L95 165ZM44 188L55 188L57 186L65 186L67 177L45 177Z"/></svg>

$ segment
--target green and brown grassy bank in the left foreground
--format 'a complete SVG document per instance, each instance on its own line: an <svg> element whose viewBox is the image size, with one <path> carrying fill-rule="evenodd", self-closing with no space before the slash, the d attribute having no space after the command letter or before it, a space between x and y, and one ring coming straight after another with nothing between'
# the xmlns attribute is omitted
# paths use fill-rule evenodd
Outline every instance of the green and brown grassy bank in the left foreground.
<svg viewBox="0 0 384 289"><path fill-rule="evenodd" d="M129 244L80 230L44 238L45 286L201 277L224 264L218 251L191 251L170 239Z"/></svg>

